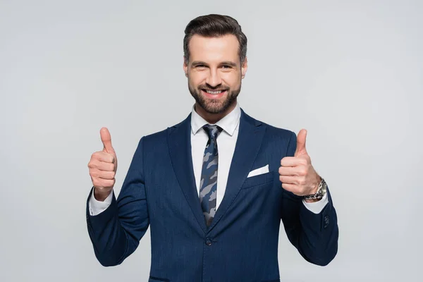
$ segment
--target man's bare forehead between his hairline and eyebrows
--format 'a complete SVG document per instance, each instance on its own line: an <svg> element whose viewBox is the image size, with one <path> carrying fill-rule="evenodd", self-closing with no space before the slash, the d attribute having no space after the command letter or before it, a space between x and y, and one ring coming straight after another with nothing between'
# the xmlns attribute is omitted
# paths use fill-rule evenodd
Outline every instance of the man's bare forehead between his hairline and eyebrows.
<svg viewBox="0 0 423 282"><path fill-rule="evenodd" d="M223 35L221 37L193 35L188 44L190 61L238 62L238 46L238 39L235 35Z"/></svg>

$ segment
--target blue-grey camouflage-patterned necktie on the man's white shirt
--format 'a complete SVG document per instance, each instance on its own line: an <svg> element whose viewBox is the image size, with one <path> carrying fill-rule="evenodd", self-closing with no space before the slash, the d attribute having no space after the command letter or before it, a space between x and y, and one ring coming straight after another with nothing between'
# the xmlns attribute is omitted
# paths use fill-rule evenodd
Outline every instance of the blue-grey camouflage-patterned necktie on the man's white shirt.
<svg viewBox="0 0 423 282"><path fill-rule="evenodd" d="M209 135L201 171L200 182L200 203L207 226L210 226L216 214L216 193L217 193L217 165L219 154L217 152L216 138L222 128L217 125L204 125L204 130Z"/></svg>

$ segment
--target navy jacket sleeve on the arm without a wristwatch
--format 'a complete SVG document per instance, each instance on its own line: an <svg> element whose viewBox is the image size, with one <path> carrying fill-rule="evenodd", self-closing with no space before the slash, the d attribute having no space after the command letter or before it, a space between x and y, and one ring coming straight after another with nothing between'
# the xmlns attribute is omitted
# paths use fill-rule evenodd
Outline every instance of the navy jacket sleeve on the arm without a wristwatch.
<svg viewBox="0 0 423 282"><path fill-rule="evenodd" d="M86 217L94 253L103 266L115 266L132 254L149 226L145 193L141 138L123 181L118 200L113 194L110 206L101 214L91 216L89 199ZM93 192L93 188L90 195Z"/></svg>

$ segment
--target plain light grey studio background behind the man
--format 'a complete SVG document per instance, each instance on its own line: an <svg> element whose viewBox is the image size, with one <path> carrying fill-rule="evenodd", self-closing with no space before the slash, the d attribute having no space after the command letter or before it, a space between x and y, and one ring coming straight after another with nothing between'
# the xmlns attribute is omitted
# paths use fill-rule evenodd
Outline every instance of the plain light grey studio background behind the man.
<svg viewBox="0 0 423 282"><path fill-rule="evenodd" d="M331 188L326 267L281 230L281 281L419 281L422 1L0 1L0 281L147 281L149 232L121 266L94 257L87 164L109 128L116 193L142 135L188 116L183 30L235 17L240 106L298 133ZM254 244L254 242L252 242Z"/></svg>

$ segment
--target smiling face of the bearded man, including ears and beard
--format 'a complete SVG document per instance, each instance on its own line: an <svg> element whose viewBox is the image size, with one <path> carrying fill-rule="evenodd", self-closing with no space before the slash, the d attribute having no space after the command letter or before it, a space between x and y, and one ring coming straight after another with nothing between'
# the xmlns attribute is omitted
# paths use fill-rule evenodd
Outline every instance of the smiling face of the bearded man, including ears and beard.
<svg viewBox="0 0 423 282"><path fill-rule="evenodd" d="M235 35L190 39L190 58L183 68L192 97L207 114L228 114L236 104L247 71L247 60L240 64L238 46Z"/></svg>

